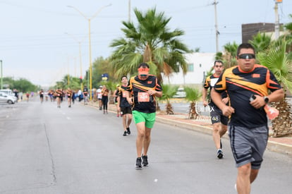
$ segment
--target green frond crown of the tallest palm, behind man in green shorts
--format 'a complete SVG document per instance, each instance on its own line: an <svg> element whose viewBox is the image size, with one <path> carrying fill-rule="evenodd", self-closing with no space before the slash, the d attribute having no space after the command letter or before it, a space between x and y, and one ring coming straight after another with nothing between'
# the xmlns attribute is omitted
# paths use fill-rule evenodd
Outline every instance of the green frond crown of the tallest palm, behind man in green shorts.
<svg viewBox="0 0 292 194"><path fill-rule="evenodd" d="M184 35L183 30L170 31L167 25L171 18L166 18L164 12L157 13L156 8L146 13L135 8L134 12L138 25L123 21L121 30L126 38L113 40L110 45L116 48L110 57L116 76L135 74L142 62L150 65L150 73L157 75L161 82L162 73L168 78L181 67L185 74L187 63L183 54L189 49L178 40Z"/></svg>

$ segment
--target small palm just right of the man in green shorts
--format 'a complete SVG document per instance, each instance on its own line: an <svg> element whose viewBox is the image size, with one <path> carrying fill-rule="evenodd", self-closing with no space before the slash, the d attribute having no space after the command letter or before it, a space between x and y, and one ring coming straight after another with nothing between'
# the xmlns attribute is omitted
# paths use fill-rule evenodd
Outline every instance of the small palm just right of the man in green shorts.
<svg viewBox="0 0 292 194"><path fill-rule="evenodd" d="M174 85L162 85L163 94L162 97L159 97L159 100L166 100L166 114L174 114L174 109L171 106L170 99L178 91L178 86Z"/></svg>

